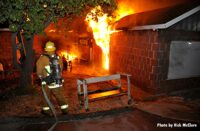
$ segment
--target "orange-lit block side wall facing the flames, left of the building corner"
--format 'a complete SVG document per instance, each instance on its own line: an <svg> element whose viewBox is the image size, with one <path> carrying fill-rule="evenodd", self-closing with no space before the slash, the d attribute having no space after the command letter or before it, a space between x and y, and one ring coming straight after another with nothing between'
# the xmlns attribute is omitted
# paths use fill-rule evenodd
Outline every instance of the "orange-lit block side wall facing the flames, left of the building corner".
<svg viewBox="0 0 200 131"><path fill-rule="evenodd" d="M157 31L121 31L111 36L110 72L132 75L132 83L155 92L159 43ZM166 47L162 47L166 48Z"/></svg>

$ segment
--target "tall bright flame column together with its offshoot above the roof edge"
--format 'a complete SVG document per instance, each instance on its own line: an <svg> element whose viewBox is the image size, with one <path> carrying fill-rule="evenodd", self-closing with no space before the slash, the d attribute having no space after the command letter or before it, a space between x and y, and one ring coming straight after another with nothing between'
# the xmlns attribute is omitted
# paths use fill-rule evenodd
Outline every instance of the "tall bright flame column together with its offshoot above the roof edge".
<svg viewBox="0 0 200 131"><path fill-rule="evenodd" d="M110 34L114 32L111 29L111 24L134 12L133 10L124 10L121 7L124 6L119 6L118 10L115 11L115 18L108 16L100 6L97 6L87 14L85 19L92 29L96 44L102 49L102 64L105 70L109 70Z"/></svg>

